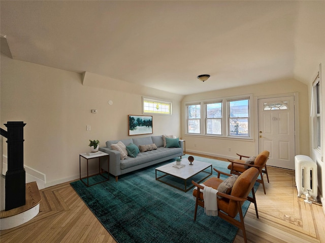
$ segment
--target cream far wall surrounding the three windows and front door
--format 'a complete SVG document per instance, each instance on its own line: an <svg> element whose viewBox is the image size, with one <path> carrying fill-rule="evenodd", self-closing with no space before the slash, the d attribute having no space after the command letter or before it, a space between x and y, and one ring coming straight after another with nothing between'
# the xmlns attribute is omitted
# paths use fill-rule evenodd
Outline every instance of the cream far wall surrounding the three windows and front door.
<svg viewBox="0 0 325 243"><path fill-rule="evenodd" d="M308 123L308 89L307 85L295 80L280 80L277 82L268 82L259 85L243 86L233 89L216 90L206 93L185 96L181 104L181 122L182 122L182 138L186 140L186 150L201 151L205 154L222 156L226 158L238 157L236 153L240 154L255 154L256 142L252 140L234 139L234 138L219 138L219 137L204 137L186 135L186 114L185 103L188 101L198 101L215 99L221 97L231 97L243 94L253 94L253 97L277 95L298 92L299 96L299 148L301 154L309 155L309 123ZM257 123L255 121L257 104L253 98L250 103L252 109L251 123L252 137L257 131ZM196 146L195 146L196 144ZM231 148L231 151L228 151Z"/></svg>

